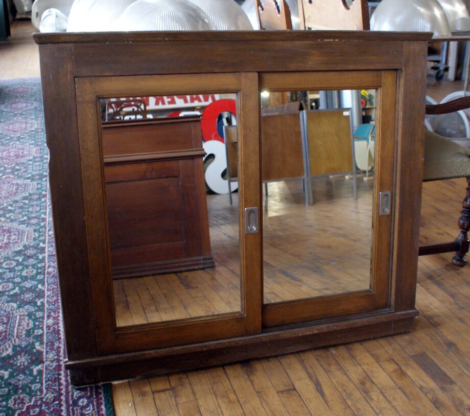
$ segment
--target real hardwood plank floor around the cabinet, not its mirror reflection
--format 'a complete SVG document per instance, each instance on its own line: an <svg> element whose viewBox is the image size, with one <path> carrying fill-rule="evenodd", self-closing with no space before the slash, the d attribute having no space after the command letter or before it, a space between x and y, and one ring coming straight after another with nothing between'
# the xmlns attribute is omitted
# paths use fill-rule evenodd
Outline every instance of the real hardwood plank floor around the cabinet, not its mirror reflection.
<svg viewBox="0 0 470 416"><path fill-rule="evenodd" d="M39 76L37 47L28 34L19 41L20 25L33 31L13 23L13 37L0 42L0 78ZM459 89L442 82L430 95ZM422 242L456 237L464 189L463 179L424 184ZM470 268L451 258L420 257L410 334L114 383L116 415L468 415Z"/></svg>

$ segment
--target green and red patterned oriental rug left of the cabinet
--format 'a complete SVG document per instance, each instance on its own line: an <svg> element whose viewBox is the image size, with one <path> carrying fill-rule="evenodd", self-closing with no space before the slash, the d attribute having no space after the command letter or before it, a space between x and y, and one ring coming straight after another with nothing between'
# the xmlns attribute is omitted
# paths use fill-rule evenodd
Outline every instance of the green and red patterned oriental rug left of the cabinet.
<svg viewBox="0 0 470 416"><path fill-rule="evenodd" d="M0 80L0 416L112 415L64 354L40 80Z"/></svg>

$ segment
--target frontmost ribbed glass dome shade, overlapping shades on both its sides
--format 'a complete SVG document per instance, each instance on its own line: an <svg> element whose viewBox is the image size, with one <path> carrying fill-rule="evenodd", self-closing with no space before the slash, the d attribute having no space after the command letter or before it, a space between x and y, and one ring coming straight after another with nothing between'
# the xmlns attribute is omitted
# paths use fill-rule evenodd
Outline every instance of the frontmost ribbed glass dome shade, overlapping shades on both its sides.
<svg viewBox="0 0 470 416"><path fill-rule="evenodd" d="M189 0L137 0L114 22L114 31L215 30L202 9Z"/></svg>

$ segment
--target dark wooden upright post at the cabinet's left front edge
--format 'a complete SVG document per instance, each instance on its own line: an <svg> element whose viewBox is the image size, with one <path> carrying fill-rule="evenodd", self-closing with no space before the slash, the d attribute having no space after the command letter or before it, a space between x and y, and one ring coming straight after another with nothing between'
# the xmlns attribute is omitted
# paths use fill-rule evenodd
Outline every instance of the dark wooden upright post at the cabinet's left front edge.
<svg viewBox="0 0 470 416"><path fill-rule="evenodd" d="M40 46L49 180L68 359L96 356L72 46Z"/></svg>

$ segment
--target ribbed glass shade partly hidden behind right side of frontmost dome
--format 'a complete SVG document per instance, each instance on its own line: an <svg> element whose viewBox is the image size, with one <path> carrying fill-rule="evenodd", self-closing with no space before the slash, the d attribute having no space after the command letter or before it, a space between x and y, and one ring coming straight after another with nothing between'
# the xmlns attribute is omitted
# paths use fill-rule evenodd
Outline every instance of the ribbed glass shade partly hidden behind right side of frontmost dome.
<svg viewBox="0 0 470 416"><path fill-rule="evenodd" d="M253 30L248 16L233 0L190 0L212 20L217 30Z"/></svg>

